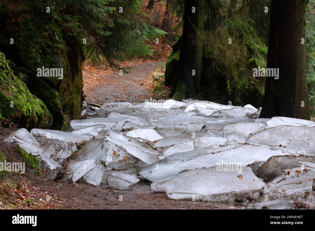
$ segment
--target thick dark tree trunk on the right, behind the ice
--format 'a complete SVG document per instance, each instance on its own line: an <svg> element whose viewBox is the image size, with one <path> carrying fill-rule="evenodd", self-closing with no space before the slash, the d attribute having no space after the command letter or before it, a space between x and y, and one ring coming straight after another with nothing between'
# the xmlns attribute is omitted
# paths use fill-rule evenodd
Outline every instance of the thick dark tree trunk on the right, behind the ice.
<svg viewBox="0 0 315 231"><path fill-rule="evenodd" d="M260 118L310 119L306 47L301 44L301 39L305 39L307 3L308 0L273 0L271 3L267 68L279 68L279 79L266 77Z"/></svg>

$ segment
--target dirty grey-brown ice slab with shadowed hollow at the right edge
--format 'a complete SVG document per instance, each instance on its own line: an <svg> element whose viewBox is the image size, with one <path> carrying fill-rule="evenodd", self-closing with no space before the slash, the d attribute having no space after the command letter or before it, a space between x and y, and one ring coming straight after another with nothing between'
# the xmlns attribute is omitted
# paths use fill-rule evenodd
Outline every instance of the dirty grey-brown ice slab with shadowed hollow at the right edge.
<svg viewBox="0 0 315 231"><path fill-rule="evenodd" d="M282 175L282 170L288 168L298 168L300 165L296 162L313 162L315 163L315 157L311 156L291 156L291 155L274 155L270 157L260 168L257 173L259 177L263 179L275 179Z"/></svg>

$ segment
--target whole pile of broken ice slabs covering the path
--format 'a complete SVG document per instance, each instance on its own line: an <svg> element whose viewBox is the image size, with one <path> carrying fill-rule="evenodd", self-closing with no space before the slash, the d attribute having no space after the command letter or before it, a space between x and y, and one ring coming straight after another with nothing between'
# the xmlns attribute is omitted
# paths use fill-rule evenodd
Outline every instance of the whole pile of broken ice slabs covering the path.
<svg viewBox="0 0 315 231"><path fill-rule="evenodd" d="M315 122L260 119L261 108L207 101L106 103L73 131L19 129L8 140L51 179L126 189L140 179L170 198L314 207ZM296 199L298 198L298 199Z"/></svg>

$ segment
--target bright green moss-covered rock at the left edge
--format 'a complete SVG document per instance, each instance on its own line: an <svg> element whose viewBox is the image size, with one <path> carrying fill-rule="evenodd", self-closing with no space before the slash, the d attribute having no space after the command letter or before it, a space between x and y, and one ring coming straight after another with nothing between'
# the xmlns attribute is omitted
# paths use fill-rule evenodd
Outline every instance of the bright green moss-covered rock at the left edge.
<svg viewBox="0 0 315 231"><path fill-rule="evenodd" d="M26 84L9 68L0 52L0 118L11 120L26 129L47 128L52 116L43 101L33 96Z"/></svg>

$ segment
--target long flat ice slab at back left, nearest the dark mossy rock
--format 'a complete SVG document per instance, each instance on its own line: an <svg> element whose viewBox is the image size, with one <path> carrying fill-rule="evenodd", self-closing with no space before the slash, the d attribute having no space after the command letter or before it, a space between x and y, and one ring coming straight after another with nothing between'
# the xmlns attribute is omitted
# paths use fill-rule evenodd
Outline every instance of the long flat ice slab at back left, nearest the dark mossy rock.
<svg viewBox="0 0 315 231"><path fill-rule="evenodd" d="M121 130L123 124L127 121L130 121L130 118L90 118L90 119L79 119L79 120L71 120L70 125L73 129L81 126L93 126L96 124L105 124L106 128L104 129L113 129L113 130Z"/></svg>

